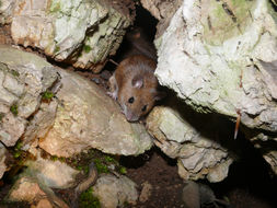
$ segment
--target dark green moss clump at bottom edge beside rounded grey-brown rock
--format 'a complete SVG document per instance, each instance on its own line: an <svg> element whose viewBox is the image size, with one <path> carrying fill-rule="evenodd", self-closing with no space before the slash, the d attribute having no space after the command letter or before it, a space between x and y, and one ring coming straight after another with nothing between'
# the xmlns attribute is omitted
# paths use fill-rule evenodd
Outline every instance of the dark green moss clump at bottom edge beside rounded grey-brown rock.
<svg viewBox="0 0 277 208"><path fill-rule="evenodd" d="M93 189L90 187L88 190L83 192L79 198L80 208L100 208L99 199L93 196Z"/></svg>

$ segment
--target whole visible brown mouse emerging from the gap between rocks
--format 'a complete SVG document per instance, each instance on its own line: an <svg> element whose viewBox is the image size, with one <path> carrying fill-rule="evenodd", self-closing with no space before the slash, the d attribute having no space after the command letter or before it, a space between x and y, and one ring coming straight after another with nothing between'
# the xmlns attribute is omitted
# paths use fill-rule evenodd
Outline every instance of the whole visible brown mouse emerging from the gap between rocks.
<svg viewBox="0 0 277 208"><path fill-rule="evenodd" d="M158 91L155 66L154 60L143 55L131 56L119 62L108 80L108 94L117 100L128 122L139 120L165 95Z"/></svg>

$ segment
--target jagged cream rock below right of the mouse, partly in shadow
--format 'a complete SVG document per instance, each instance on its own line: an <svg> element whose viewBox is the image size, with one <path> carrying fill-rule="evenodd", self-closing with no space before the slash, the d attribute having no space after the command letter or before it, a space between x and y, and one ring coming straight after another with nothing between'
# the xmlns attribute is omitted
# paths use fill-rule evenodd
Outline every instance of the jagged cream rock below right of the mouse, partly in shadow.
<svg viewBox="0 0 277 208"><path fill-rule="evenodd" d="M154 107L147 118L154 143L165 154L178 160L178 174L185 180L206 177L210 182L220 182L226 178L232 159L219 143L232 136L226 134L229 130L224 132L224 122L203 117L185 107L170 106Z"/></svg>

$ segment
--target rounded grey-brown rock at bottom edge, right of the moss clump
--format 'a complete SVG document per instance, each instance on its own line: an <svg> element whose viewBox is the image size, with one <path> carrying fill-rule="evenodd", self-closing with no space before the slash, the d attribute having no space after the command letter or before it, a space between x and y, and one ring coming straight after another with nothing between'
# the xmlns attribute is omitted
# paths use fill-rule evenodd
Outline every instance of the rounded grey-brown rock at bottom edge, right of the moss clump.
<svg viewBox="0 0 277 208"><path fill-rule="evenodd" d="M134 205L138 199L136 184L123 175L101 175L93 186L93 195L99 198L102 208L116 208L125 203Z"/></svg>

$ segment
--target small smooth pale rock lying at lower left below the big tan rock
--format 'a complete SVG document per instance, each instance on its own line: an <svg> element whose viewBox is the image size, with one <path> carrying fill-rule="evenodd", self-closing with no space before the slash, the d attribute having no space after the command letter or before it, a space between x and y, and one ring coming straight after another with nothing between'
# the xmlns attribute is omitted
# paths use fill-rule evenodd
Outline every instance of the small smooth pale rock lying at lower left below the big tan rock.
<svg viewBox="0 0 277 208"><path fill-rule="evenodd" d="M41 183L50 188L69 188L76 185L79 171L60 161L45 160L41 157L36 161L28 161L27 173L38 178Z"/></svg>

